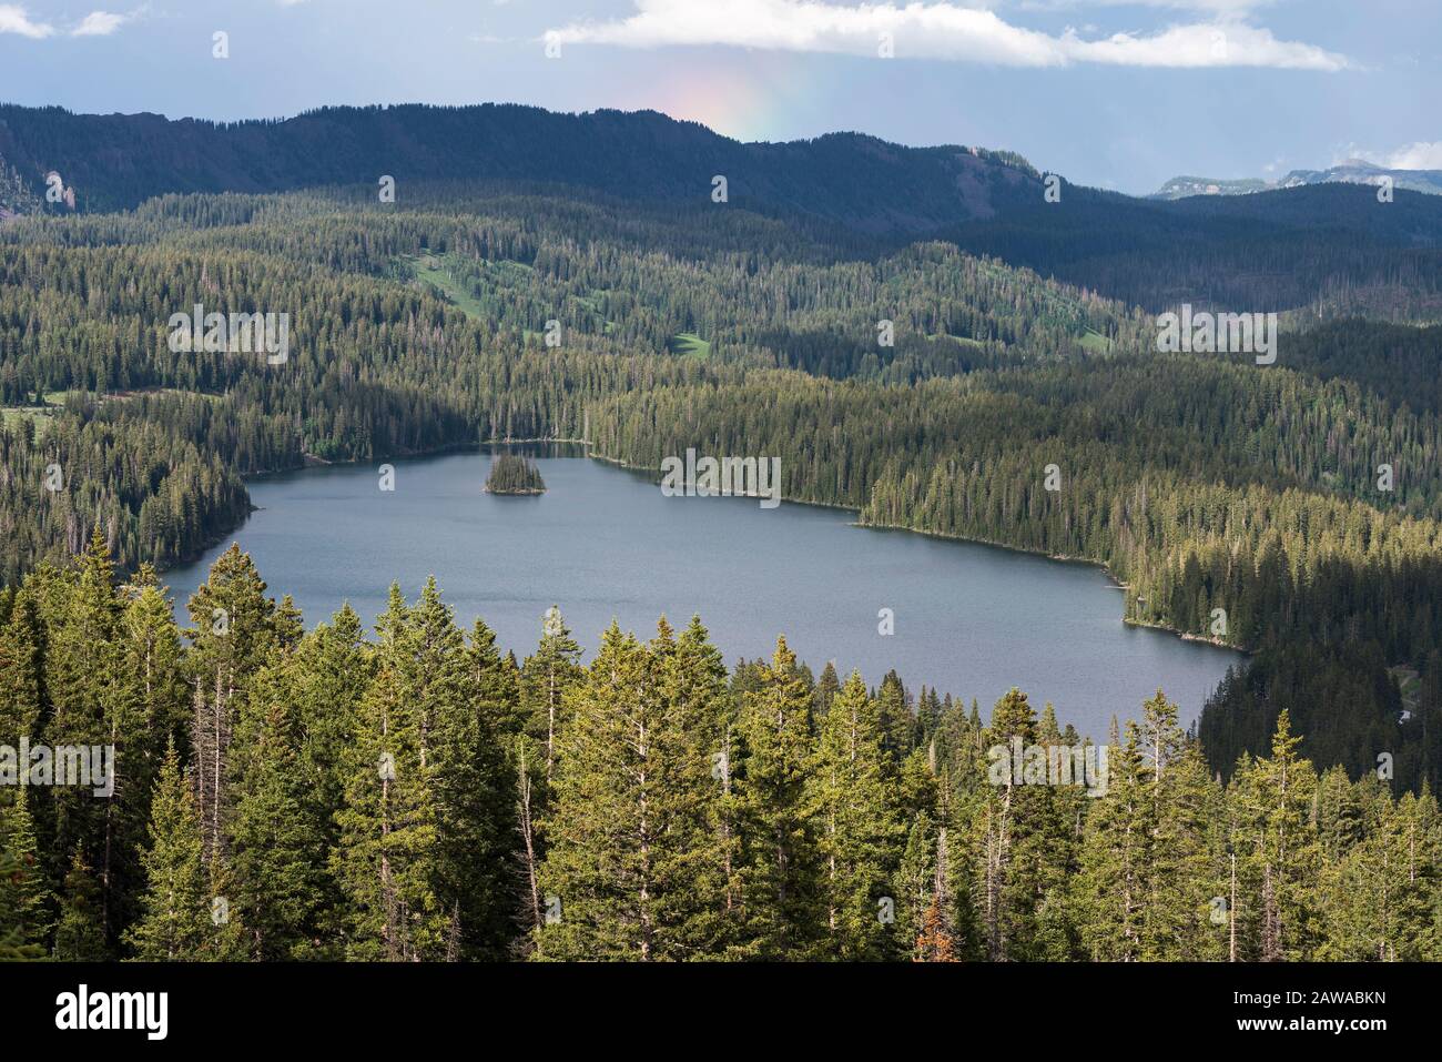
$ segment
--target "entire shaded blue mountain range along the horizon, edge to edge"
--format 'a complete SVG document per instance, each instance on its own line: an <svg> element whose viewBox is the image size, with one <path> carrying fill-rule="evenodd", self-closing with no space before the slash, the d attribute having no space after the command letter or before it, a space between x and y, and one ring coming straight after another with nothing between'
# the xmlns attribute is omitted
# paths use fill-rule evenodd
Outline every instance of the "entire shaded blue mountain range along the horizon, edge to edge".
<svg viewBox="0 0 1442 1062"><path fill-rule="evenodd" d="M1256 195L1180 179L1218 188L1171 201L1053 180L1014 152L859 133L740 143L656 111L402 104L212 123L0 104L0 211L20 215L131 209L167 193L313 189L378 202L384 176L402 211L505 192L701 218L718 209L725 177L725 209L805 228L835 253L945 240L1148 309L1442 316L1442 199L1406 190L1416 173L1386 208L1370 189L1302 173L1279 190L1255 182ZM48 177L59 202L48 202Z"/></svg>

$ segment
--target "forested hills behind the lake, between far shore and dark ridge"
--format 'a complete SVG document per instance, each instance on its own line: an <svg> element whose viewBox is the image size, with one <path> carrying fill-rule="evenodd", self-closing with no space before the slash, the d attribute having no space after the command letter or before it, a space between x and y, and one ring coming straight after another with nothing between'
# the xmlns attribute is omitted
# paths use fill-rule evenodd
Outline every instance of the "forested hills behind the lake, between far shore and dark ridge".
<svg viewBox="0 0 1442 1062"><path fill-rule="evenodd" d="M127 570L192 557L244 514L236 475L307 459L587 431L652 470L767 453L793 499L1090 558L1128 619L1256 651L1201 721L1217 771L1291 708L1318 762L1389 752L1436 785L1436 698L1393 678L1438 671L1433 329L1286 330L1273 367L1158 355L1145 315L939 241L867 257L722 208L417 198L0 229L6 579L97 522ZM193 303L288 313L287 361L172 351Z"/></svg>

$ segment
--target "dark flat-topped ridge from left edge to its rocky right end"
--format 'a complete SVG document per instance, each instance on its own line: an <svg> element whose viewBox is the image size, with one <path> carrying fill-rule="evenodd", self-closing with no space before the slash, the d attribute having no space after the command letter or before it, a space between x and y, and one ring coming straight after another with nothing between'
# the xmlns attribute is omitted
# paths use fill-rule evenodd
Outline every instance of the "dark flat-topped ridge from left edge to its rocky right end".
<svg viewBox="0 0 1442 1062"><path fill-rule="evenodd" d="M326 107L294 118L212 123L0 105L0 175L43 195L48 173L78 209L133 208L164 192L287 192L502 180L620 198L727 201L868 232L921 232L1041 201L1041 175L1009 152L903 147L858 133L744 144L656 111L539 107Z"/></svg>

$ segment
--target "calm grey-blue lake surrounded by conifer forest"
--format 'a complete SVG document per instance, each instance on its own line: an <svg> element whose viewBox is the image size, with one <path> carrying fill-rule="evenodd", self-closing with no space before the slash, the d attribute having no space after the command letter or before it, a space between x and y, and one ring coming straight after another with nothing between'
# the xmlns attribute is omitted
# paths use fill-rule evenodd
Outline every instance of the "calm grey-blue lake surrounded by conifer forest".
<svg viewBox="0 0 1442 1062"><path fill-rule="evenodd" d="M307 469L249 482L260 506L225 543L164 580L183 600L232 543L307 625L349 600L366 623L392 580L414 600L434 574L457 622L479 615L518 659L558 605L588 654L620 620L642 638L662 613L699 613L728 662L770 657L784 633L816 674L835 661L875 685L895 668L970 701L983 717L1008 688L1103 739L1158 687L1184 723L1240 654L1126 626L1122 590L1097 567L851 524L855 514L747 498L666 498L633 472L539 457L547 493L485 493L486 453ZM894 633L878 633L891 609Z"/></svg>

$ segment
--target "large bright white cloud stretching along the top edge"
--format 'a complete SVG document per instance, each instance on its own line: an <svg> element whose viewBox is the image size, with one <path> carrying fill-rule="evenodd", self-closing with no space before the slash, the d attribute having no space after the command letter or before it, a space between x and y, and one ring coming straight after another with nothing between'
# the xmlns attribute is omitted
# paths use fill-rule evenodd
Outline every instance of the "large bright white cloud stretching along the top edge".
<svg viewBox="0 0 1442 1062"><path fill-rule="evenodd" d="M614 22L572 22L548 32L559 43L630 48L721 45L792 52L877 55L883 33L900 58L988 62L1004 66L1275 66L1337 71L1347 58L1278 40L1266 29L1224 20L1171 26L1149 36L1115 33L1086 40L1012 26L994 12L955 3L839 6L818 0L634 0Z"/></svg>

